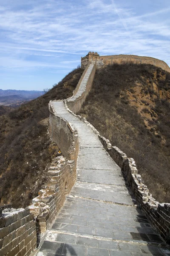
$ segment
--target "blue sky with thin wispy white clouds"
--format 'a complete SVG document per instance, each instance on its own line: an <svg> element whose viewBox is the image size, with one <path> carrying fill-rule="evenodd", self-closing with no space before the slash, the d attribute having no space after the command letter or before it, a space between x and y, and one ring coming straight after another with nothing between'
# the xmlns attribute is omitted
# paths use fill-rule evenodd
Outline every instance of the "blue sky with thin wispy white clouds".
<svg viewBox="0 0 170 256"><path fill-rule="evenodd" d="M170 66L170 1L0 0L0 89L50 88L89 51Z"/></svg>

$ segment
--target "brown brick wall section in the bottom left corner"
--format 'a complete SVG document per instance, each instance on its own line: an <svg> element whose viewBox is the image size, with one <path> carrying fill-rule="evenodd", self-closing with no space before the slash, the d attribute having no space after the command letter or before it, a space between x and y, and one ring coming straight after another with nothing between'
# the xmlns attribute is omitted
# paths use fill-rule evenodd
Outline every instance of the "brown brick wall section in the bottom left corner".
<svg viewBox="0 0 170 256"><path fill-rule="evenodd" d="M28 209L0 210L0 255L28 256L37 247L33 214Z"/></svg>

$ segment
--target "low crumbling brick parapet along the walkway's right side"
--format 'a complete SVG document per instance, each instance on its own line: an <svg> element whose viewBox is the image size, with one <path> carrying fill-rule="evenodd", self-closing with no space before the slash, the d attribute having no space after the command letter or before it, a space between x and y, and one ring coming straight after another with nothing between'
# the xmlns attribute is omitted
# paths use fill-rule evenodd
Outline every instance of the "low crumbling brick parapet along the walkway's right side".
<svg viewBox="0 0 170 256"><path fill-rule="evenodd" d="M67 108L67 102L65 102L65 105ZM105 150L121 168L123 176L127 180L133 195L136 197L138 207L142 209L153 227L155 227L157 232L167 242L167 244L170 244L170 204L161 204L152 197L152 194L144 184L144 181L136 168L136 163L133 158L127 157L127 155L119 148L112 146L110 141L105 137L102 137L96 128L94 128L94 126L86 120L86 118L74 114L69 109L68 111L72 115L77 116L80 120L82 120L82 122L85 122L86 125L88 125L88 127L90 127L98 136Z"/></svg>

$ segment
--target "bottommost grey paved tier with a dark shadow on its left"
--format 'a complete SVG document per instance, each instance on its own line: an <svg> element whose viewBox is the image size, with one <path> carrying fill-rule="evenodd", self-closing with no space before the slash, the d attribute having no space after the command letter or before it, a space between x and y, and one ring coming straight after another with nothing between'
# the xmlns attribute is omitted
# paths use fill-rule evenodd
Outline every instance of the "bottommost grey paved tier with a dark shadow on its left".
<svg viewBox="0 0 170 256"><path fill-rule="evenodd" d="M48 231L37 256L165 256L166 248Z"/></svg>

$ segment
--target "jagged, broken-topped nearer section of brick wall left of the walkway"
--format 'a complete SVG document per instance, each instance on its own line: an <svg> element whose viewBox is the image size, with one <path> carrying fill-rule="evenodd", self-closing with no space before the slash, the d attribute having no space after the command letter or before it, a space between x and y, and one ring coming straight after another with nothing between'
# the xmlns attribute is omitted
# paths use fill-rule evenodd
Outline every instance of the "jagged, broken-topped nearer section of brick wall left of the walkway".
<svg viewBox="0 0 170 256"><path fill-rule="evenodd" d="M74 150L70 151L69 157L56 157L55 161L56 164L48 168L48 183L42 186L39 195L28 207L36 219L38 243L54 221L77 178Z"/></svg>

